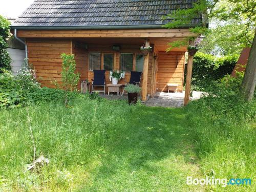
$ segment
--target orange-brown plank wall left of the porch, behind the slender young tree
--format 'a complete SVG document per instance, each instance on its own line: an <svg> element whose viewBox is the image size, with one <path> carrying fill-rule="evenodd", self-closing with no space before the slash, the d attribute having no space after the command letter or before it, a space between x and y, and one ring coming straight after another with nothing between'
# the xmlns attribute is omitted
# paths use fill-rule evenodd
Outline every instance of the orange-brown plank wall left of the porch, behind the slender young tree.
<svg viewBox="0 0 256 192"><path fill-rule="evenodd" d="M26 39L29 63L42 87L55 87L51 82L61 83L62 53L71 54L70 39Z"/></svg>

